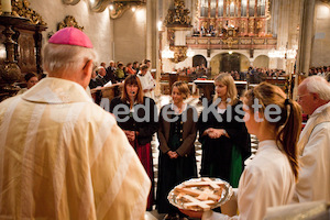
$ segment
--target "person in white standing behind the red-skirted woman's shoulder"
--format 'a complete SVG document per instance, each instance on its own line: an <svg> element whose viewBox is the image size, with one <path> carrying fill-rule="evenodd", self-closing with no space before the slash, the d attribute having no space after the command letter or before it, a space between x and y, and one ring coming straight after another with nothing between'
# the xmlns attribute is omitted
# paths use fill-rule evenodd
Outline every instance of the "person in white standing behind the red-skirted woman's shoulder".
<svg viewBox="0 0 330 220"><path fill-rule="evenodd" d="M140 72L138 74L138 77L141 80L141 85L142 85L142 88L143 88L144 96L154 99L155 81L154 81L153 76L151 74L147 74L148 73L147 69L148 69L147 65L145 65L145 64L142 65L140 67Z"/></svg>

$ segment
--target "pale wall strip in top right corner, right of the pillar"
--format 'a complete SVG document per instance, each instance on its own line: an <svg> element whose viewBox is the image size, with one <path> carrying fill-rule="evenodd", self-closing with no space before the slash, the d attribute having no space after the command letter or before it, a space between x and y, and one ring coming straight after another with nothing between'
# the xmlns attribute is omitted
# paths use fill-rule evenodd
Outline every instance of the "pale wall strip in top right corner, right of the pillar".
<svg viewBox="0 0 330 220"><path fill-rule="evenodd" d="M310 67L330 66L330 3L317 3L315 24Z"/></svg>

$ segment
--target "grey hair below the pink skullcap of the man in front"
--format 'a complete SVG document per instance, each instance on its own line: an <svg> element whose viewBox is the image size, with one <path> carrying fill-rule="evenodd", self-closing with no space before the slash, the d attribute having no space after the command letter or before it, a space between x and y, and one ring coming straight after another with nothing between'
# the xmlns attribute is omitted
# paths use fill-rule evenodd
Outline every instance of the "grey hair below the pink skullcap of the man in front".
<svg viewBox="0 0 330 220"><path fill-rule="evenodd" d="M75 45L46 44L44 47L44 68L50 73L76 72L87 61L96 61L94 48Z"/></svg>

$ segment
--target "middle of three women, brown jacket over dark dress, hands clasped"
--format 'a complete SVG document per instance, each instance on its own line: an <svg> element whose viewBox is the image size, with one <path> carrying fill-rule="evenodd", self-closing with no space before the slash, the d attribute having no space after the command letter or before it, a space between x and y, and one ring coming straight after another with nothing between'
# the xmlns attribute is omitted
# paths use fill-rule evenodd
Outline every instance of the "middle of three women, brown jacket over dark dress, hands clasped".
<svg viewBox="0 0 330 220"><path fill-rule="evenodd" d="M188 96L187 84L176 81L172 88L173 103L163 107L160 116L157 210L167 213L165 219L179 213L167 200L169 190L184 180L197 177L195 140L198 114L194 107L184 102Z"/></svg>

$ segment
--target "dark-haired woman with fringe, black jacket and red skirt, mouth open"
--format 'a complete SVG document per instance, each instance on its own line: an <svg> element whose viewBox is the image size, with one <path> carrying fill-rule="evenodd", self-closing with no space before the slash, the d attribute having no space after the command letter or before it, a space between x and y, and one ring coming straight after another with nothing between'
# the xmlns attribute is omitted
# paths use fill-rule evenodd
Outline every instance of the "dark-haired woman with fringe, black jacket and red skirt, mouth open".
<svg viewBox="0 0 330 220"><path fill-rule="evenodd" d="M140 79L136 75L125 78L121 97L111 100L110 112L124 131L131 145L135 150L151 182L152 188L147 199L147 210L154 204L154 172L151 141L158 130L157 108L153 99L143 96Z"/></svg>

